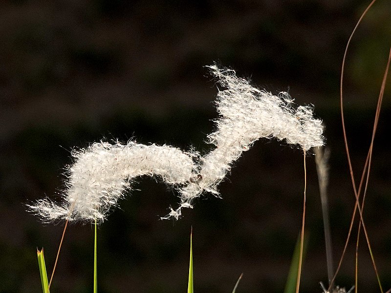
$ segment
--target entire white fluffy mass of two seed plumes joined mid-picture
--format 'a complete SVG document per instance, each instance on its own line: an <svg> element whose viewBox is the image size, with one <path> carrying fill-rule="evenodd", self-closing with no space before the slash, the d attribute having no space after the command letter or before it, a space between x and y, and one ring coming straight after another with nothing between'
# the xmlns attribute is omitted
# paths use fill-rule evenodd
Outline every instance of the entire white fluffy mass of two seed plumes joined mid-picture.
<svg viewBox="0 0 391 293"><path fill-rule="evenodd" d="M94 143L73 152L63 202L41 199L30 209L45 221L103 221L132 179L149 175L178 190L179 208L163 217L178 219L181 209L192 208L202 192L218 195L217 186L232 163L258 139L277 138L303 150L324 145L322 121L314 118L312 107L295 108L287 93L272 95L238 78L234 70L208 67L225 88L217 94L216 131L208 135L214 150L201 157L172 146Z"/></svg>

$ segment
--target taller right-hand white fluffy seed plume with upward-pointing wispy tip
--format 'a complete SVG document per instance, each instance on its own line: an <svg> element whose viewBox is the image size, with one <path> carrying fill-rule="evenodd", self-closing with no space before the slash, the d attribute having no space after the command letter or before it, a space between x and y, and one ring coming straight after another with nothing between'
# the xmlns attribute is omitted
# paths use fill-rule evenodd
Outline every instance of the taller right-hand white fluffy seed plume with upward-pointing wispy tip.
<svg viewBox="0 0 391 293"><path fill-rule="evenodd" d="M245 79L238 78L232 69L208 66L217 82L225 88L217 94L217 130L208 135L216 146L201 158L199 177L181 189L182 206L171 210L169 217L178 218L183 204L188 205L203 191L218 195L217 185L224 179L231 164L243 151L249 150L260 138L277 138L308 150L323 146L323 126L313 116L310 106L294 108L293 99L286 92L272 95L259 90Z"/></svg>

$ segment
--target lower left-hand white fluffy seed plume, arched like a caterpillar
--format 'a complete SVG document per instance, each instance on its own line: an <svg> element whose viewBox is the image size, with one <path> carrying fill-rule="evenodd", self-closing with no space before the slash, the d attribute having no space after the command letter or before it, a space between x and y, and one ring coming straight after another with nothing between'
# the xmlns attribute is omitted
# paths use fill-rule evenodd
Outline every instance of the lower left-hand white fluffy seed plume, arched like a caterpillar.
<svg viewBox="0 0 391 293"><path fill-rule="evenodd" d="M175 187L194 175L194 154L171 146L94 143L72 155L76 161L69 168L63 203L46 198L30 206L45 221L103 221L133 178L158 176Z"/></svg>

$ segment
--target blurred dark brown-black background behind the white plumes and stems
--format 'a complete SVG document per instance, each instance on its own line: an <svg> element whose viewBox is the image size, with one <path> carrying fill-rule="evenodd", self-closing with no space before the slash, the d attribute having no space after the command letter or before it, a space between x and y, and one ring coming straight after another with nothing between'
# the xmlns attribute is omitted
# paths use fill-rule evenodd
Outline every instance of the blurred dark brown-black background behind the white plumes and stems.
<svg viewBox="0 0 391 293"><path fill-rule="evenodd" d="M221 63L272 92L315 105L326 125L330 214L337 263L354 206L339 114L346 42L369 1L3 1L0 4L0 292L40 292L36 247L51 272L63 230L25 203L55 198L72 147L99 140L194 146L208 151L217 88L204 65ZM379 0L353 38L346 119L357 180L391 36L391 3ZM385 290L391 287L390 87L375 141L365 219ZM301 292L327 283L313 156L307 158L308 248ZM178 199L141 178L98 232L101 293L176 293L187 288L194 230L195 291L282 292L301 228L303 154L262 139L220 185L177 222ZM356 226L355 226L356 227ZM357 228L354 229L356 231ZM356 239L356 232L353 233ZM359 292L379 292L365 241ZM354 242L353 241L353 242ZM68 227L51 291L92 291L93 227ZM354 246L337 283L354 284Z"/></svg>

